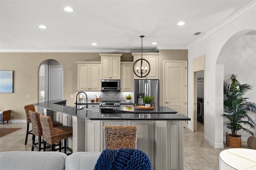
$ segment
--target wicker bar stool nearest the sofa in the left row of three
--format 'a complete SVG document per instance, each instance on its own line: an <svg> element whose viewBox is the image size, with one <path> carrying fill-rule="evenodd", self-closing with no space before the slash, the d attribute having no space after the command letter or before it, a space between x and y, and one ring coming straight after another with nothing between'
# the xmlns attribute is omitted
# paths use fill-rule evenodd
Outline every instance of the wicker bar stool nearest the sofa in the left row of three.
<svg viewBox="0 0 256 170"><path fill-rule="evenodd" d="M67 148L67 138L72 137L73 135L72 127L53 127L49 116L40 114L39 117L43 130L43 139L51 145L51 151L59 150L59 152L61 152L61 150L64 149L65 154L67 153L67 149L72 151L70 148ZM61 146L62 140L64 140L64 147ZM55 146L59 147L55 149ZM46 144L44 144L44 151L46 151Z"/></svg>

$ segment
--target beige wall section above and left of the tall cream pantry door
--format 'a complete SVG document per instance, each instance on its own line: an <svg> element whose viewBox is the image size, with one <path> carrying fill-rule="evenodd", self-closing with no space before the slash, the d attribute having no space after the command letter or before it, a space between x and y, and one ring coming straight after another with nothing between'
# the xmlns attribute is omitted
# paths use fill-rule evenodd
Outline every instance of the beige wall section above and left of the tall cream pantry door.
<svg viewBox="0 0 256 170"><path fill-rule="evenodd" d="M161 49L159 51L159 105L164 106L163 101L163 82L164 82L164 61L165 60L181 60L188 61L188 50L187 49Z"/></svg>

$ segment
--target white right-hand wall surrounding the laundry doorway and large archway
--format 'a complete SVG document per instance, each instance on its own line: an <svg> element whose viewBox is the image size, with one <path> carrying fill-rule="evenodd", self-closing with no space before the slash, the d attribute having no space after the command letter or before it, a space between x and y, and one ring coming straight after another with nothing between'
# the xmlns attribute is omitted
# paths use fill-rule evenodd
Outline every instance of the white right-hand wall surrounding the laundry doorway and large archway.
<svg viewBox="0 0 256 170"><path fill-rule="evenodd" d="M232 44L243 34L256 29L256 2L236 13L188 47L188 128L193 129L192 61L205 54L205 140L214 148L223 148L224 61Z"/></svg>

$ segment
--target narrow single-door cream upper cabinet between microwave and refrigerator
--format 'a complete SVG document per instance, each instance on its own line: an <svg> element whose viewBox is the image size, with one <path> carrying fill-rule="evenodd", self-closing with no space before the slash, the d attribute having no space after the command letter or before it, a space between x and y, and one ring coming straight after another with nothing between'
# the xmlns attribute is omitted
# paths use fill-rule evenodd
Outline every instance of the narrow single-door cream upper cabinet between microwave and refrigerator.
<svg viewBox="0 0 256 170"><path fill-rule="evenodd" d="M133 62L121 62L121 92L133 91Z"/></svg>

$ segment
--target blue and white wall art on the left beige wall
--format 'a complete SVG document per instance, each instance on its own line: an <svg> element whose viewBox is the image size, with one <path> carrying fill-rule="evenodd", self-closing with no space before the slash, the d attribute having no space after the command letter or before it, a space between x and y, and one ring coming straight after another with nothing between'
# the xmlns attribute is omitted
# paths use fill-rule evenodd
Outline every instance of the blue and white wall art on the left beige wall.
<svg viewBox="0 0 256 170"><path fill-rule="evenodd" d="M0 93L13 93L13 71L0 71Z"/></svg>

